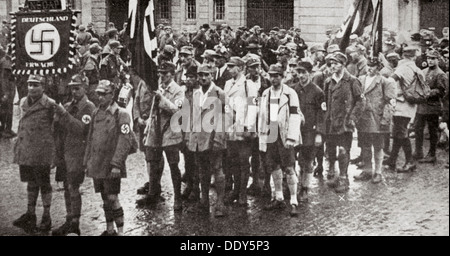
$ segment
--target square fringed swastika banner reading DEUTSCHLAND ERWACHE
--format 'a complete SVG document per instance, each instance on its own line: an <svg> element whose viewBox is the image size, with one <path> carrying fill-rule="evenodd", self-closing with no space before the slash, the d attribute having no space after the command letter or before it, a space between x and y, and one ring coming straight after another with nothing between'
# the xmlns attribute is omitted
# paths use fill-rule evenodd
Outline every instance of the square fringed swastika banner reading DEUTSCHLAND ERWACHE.
<svg viewBox="0 0 450 256"><path fill-rule="evenodd" d="M48 75L71 70L75 22L72 11L15 13L11 20L13 73Z"/></svg>

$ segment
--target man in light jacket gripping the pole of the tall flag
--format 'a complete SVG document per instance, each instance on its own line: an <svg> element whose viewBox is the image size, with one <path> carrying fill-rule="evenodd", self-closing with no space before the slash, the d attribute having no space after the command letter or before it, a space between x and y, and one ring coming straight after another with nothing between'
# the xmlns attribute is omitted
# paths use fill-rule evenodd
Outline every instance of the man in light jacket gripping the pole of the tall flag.
<svg viewBox="0 0 450 256"><path fill-rule="evenodd" d="M180 162L180 146L183 141L181 131L176 131L171 119L177 113L184 101L184 90L173 80L175 64L166 62L158 68L160 77L159 89L153 92L153 108L144 131L145 158L150 166L150 187L146 197L138 200L138 204L148 204L157 201L161 194L161 177L164 161L163 151L166 154L170 168L174 192L174 211L182 210L181 201L181 172L178 168Z"/></svg>

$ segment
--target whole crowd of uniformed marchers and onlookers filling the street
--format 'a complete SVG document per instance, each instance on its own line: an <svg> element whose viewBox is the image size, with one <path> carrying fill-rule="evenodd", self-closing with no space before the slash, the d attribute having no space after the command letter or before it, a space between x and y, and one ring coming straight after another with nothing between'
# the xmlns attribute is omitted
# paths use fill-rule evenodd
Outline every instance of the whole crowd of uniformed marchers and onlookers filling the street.
<svg viewBox="0 0 450 256"><path fill-rule="evenodd" d="M28 184L28 210L15 226L37 230L40 191L39 229L51 230L52 166L64 182L67 210L67 221L53 235L80 234L85 174L104 202L102 235L122 235L121 179L127 156L137 150L144 152L148 173L137 188L143 195L138 206L161 199L167 161L174 211L208 214L214 187L215 217L226 216L228 205L245 207L247 195L267 198L267 211L289 207L294 217L308 202L314 177L326 174L327 185L345 193L353 163L361 169L355 180L377 184L384 170L411 172L416 161L436 163L439 134L448 137L448 28L442 39L427 29L402 44L385 31L383 52L373 56L370 36L352 35L341 49L332 29L325 43L307 45L299 28L233 31L227 24L204 24L194 35L183 29L175 38L171 27L159 25L157 85L146 84L128 66L125 31L110 24L100 37L93 24L78 26L71 75L13 76L3 47L1 131L16 137L11 125L17 88L15 163ZM418 83L430 88L423 101L406 93ZM121 101L128 84L133 100ZM127 111L129 102L134 103ZM430 147L424 155L426 124ZM350 159L355 131L361 154ZM399 165L402 148L405 161Z"/></svg>

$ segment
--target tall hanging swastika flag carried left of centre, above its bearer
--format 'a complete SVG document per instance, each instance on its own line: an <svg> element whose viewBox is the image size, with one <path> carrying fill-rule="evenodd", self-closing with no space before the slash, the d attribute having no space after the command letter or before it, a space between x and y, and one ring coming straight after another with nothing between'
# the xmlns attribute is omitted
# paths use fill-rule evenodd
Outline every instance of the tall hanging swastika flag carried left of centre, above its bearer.
<svg viewBox="0 0 450 256"><path fill-rule="evenodd" d="M158 89L158 74L153 60L157 54L153 0L130 0L128 24L131 67L155 91Z"/></svg>

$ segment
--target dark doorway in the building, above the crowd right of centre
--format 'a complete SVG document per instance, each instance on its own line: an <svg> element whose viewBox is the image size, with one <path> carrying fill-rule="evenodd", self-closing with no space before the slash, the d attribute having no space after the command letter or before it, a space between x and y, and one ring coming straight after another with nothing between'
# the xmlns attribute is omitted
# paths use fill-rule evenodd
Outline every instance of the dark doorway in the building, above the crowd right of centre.
<svg viewBox="0 0 450 256"><path fill-rule="evenodd" d="M289 29L294 25L294 0L248 0L247 26Z"/></svg>

